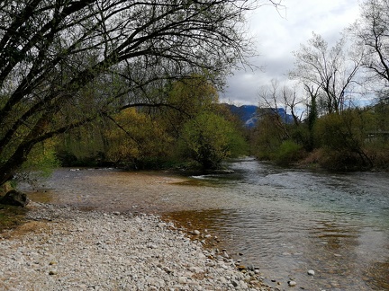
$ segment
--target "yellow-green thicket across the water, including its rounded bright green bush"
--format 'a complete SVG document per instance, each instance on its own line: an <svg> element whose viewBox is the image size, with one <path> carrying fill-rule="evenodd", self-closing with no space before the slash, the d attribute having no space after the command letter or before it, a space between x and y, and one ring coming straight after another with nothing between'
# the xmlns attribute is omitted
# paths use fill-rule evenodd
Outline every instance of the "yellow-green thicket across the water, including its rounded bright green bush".
<svg viewBox="0 0 389 291"><path fill-rule="evenodd" d="M58 146L62 164L114 164L131 169L193 166L188 160L195 154L187 145L200 144L191 136L199 134L200 129L206 140L201 143L202 149L195 151L209 156L197 161L205 168L218 167L226 157L248 154L247 142L240 135L241 123L218 103L217 90L205 76L191 75L160 90L155 88L153 94L158 93L160 98L167 97L169 106L156 110L128 108L69 131Z"/></svg>

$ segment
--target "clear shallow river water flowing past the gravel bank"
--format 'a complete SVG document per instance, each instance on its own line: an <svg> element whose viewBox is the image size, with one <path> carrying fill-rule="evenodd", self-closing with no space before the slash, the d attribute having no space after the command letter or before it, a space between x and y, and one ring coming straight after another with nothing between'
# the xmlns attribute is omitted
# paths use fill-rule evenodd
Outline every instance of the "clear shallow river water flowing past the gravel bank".
<svg viewBox="0 0 389 291"><path fill-rule="evenodd" d="M294 279L305 290L389 290L388 173L303 171L249 158L228 167L234 173L190 176L59 169L30 197L207 229L281 289Z"/></svg>

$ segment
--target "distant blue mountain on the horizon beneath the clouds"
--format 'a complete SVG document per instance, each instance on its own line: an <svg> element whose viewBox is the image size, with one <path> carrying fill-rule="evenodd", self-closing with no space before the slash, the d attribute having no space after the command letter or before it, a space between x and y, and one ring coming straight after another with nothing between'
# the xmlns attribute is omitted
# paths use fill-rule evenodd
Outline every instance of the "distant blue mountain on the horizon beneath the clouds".
<svg viewBox="0 0 389 291"><path fill-rule="evenodd" d="M228 104L228 107L230 108L232 114L239 116L240 120L242 120L245 126L248 128L253 128L261 116L274 113L276 111L285 123L293 123L292 115L287 114L284 108L262 108L258 110L258 106L255 105L236 106L231 104Z"/></svg>

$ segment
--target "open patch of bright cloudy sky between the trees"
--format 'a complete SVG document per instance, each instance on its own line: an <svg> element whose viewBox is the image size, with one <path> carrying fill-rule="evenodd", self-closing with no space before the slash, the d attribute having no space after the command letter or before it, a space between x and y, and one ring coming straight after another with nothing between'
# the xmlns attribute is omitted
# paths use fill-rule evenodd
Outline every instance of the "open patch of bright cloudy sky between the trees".
<svg viewBox="0 0 389 291"><path fill-rule="evenodd" d="M285 82L294 66L292 52L311 39L313 31L332 44L359 13L357 0L283 0L283 4L286 8L279 12L262 6L250 13L249 33L259 54L250 63L263 70L234 72L221 93L221 101L257 105L259 87L272 79Z"/></svg>

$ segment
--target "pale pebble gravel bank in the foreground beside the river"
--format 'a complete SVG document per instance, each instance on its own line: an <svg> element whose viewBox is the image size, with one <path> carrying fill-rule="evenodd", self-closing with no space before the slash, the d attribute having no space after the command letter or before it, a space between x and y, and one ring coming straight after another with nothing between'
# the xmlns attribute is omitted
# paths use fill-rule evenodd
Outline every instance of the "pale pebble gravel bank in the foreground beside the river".
<svg viewBox="0 0 389 291"><path fill-rule="evenodd" d="M270 290L156 216L29 207L0 234L0 290Z"/></svg>

